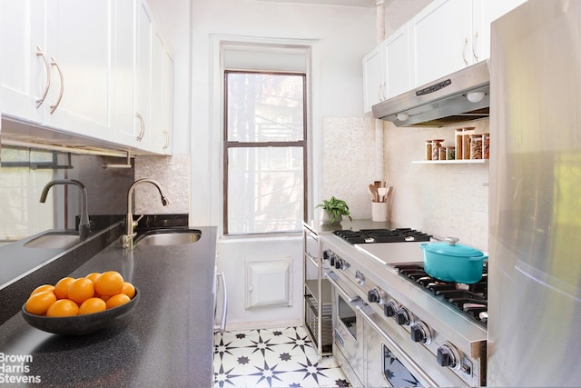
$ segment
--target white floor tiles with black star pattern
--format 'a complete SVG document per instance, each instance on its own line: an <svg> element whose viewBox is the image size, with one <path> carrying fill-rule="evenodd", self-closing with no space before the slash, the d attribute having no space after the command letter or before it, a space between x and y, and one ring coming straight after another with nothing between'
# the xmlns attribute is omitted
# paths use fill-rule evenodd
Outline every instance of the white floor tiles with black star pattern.
<svg viewBox="0 0 581 388"><path fill-rule="evenodd" d="M332 357L319 362L303 327L215 334L214 387L348 387Z"/></svg>

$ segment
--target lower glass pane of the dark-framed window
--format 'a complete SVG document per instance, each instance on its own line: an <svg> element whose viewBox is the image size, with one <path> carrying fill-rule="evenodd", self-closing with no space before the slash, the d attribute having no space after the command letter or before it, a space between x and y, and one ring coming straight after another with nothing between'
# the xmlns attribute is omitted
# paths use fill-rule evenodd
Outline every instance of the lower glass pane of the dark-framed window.
<svg viewBox="0 0 581 388"><path fill-rule="evenodd" d="M228 150L228 233L300 230L302 147Z"/></svg>

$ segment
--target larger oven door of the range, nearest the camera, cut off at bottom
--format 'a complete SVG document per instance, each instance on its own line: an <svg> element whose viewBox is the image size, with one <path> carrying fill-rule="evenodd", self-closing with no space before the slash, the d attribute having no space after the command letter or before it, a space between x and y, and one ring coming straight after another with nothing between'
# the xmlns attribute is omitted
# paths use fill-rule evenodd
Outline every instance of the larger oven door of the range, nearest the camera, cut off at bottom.
<svg viewBox="0 0 581 388"><path fill-rule="evenodd" d="M368 313L370 310L362 307L358 307L358 310L365 335L368 386L441 386L441 381L432 379L420 366L421 360L410 357L384 330L376 313Z"/></svg>

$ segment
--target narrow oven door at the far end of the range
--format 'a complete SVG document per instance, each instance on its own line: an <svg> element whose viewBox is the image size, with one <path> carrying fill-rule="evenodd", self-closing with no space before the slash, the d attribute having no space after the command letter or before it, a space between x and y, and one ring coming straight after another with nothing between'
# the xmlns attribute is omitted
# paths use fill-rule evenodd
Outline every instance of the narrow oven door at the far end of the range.
<svg viewBox="0 0 581 388"><path fill-rule="evenodd" d="M363 302L337 274L330 271L327 278L332 285L333 356L351 386L363 386L363 327L358 313Z"/></svg>

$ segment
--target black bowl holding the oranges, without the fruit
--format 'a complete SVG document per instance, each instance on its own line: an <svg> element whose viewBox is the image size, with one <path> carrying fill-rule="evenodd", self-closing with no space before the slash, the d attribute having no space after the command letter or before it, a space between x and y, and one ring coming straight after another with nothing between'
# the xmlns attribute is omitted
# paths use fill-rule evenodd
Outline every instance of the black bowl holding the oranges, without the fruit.
<svg viewBox="0 0 581 388"><path fill-rule="evenodd" d="M34 315L28 313L25 305L22 306L22 315L26 323L48 333L79 335L94 333L97 330L111 326L116 321L120 321L125 315L130 313L137 302L139 302L139 291L135 287L135 295L128 303L122 304L101 313L88 313L85 315L46 317L44 315Z"/></svg>

